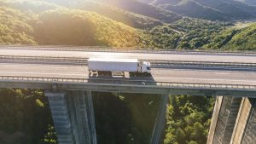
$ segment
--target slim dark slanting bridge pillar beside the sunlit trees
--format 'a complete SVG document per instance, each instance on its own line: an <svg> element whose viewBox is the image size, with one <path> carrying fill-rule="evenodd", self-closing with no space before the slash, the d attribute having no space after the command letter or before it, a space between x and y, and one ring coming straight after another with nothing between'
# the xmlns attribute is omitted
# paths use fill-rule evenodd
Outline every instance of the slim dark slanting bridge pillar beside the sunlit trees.
<svg viewBox="0 0 256 144"><path fill-rule="evenodd" d="M154 130L153 130L150 144L160 144L163 130L166 125L166 107L168 104L168 100L169 100L168 95L161 95L160 107L157 112L157 118L154 124Z"/></svg>

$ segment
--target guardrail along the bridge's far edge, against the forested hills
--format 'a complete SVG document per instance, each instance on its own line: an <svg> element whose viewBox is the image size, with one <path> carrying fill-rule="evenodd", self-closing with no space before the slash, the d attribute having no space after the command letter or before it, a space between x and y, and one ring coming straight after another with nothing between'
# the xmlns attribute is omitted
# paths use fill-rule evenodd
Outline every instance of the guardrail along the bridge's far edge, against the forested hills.
<svg viewBox="0 0 256 144"><path fill-rule="evenodd" d="M118 53L148 53L148 54L177 54L177 55L256 55L256 51L238 50L202 50L202 49L154 49L138 47L103 47L103 46L68 46L68 45L0 45L2 49L34 49L58 51L90 51L90 52L118 52Z"/></svg>

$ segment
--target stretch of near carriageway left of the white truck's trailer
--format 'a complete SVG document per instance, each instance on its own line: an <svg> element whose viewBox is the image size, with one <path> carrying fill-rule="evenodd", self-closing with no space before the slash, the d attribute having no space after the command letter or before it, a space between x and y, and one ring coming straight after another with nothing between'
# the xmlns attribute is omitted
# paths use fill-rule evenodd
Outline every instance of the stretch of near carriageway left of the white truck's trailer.
<svg viewBox="0 0 256 144"><path fill-rule="evenodd" d="M0 63L0 76L88 78L85 66Z"/></svg>

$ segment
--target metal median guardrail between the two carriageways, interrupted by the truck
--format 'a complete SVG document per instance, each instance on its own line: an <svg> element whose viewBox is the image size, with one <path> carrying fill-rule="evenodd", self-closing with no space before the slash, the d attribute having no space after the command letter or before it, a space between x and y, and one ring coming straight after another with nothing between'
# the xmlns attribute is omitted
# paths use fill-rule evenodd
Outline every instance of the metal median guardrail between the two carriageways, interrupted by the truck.
<svg viewBox="0 0 256 144"><path fill-rule="evenodd" d="M0 55L0 61L14 60L18 62L50 62L87 65L88 58L83 57L50 57L26 55ZM216 62L216 61L183 61L183 60L147 60L152 67L199 66L199 67L231 67L256 69L256 63Z"/></svg>

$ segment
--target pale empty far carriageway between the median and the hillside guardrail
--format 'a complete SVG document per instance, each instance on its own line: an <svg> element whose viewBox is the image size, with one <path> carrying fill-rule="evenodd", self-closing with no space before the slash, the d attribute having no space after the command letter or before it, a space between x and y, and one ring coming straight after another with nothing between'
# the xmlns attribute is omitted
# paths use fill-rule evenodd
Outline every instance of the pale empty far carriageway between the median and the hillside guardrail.
<svg viewBox="0 0 256 144"><path fill-rule="evenodd" d="M84 51L54 51L54 50L26 50L0 49L0 55L27 55L27 56L61 56L61 57L113 57L138 58L141 60L184 60L184 61L215 61L215 62L246 62L256 63L256 56L238 55L173 55L173 54L142 54L142 53L108 53Z"/></svg>

